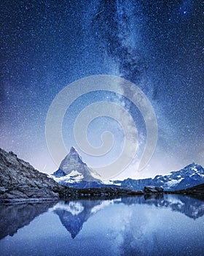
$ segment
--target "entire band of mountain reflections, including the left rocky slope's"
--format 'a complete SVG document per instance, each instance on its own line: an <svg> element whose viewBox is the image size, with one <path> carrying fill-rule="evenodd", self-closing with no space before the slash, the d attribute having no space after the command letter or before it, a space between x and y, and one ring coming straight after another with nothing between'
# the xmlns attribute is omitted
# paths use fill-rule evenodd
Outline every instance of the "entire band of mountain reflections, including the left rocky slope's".
<svg viewBox="0 0 204 256"><path fill-rule="evenodd" d="M182 195L146 195L145 197L121 197L111 200L68 200L50 203L23 203L1 205L0 239L13 236L17 230L28 225L34 218L48 211L58 214L60 222L75 238L87 220L106 206L124 204L126 206L146 204L157 208L170 208L189 218L204 215L204 201Z"/></svg>

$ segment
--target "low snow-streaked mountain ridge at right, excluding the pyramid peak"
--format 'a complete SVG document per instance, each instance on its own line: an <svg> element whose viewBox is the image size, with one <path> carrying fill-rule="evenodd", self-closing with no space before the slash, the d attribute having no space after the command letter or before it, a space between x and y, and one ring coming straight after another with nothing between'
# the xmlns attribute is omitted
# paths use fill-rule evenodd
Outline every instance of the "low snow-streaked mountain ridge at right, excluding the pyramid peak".
<svg viewBox="0 0 204 256"><path fill-rule="evenodd" d="M179 190L194 187L204 183L204 169L202 166L193 162L184 169L172 171L170 174L154 178L132 179L127 178L124 181L112 181L112 184L128 187L133 190L144 189L145 186L162 187L165 190Z"/></svg>

